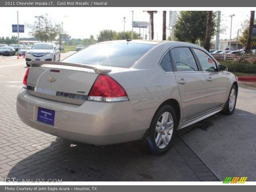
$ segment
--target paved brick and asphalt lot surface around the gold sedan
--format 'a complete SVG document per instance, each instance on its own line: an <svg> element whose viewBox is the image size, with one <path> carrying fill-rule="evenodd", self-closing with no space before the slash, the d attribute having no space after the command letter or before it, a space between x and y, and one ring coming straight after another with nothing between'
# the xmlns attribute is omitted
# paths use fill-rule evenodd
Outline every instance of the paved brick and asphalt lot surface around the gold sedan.
<svg viewBox="0 0 256 192"><path fill-rule="evenodd" d="M62 59L71 53L62 53ZM256 180L249 169L256 167L254 90L239 90L233 116L216 114L185 128L168 153L149 156L140 141L94 147L23 124L16 114L16 96L25 66L25 59L0 56L0 181L218 181L226 176Z"/></svg>

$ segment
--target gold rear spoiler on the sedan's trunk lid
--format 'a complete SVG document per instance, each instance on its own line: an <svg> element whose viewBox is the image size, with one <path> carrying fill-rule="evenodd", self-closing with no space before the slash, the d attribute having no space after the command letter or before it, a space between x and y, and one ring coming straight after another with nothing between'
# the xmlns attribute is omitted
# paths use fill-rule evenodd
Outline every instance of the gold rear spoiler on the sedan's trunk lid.
<svg viewBox="0 0 256 192"><path fill-rule="evenodd" d="M101 69L101 68L96 68L92 67L91 65L84 65L84 64L79 64L79 63L66 63L66 62L58 62L58 61L30 61L28 62L30 67L38 67L40 65L65 65L65 66L72 66L72 67L81 67L81 68L87 68L87 69L92 69L94 70L95 73L100 74L100 73L107 73L110 72L111 69Z"/></svg>

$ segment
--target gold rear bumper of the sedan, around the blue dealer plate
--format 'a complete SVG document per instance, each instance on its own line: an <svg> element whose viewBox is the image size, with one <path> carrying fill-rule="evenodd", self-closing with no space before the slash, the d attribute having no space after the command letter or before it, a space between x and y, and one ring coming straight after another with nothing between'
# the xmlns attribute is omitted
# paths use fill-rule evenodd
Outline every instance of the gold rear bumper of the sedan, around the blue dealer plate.
<svg viewBox="0 0 256 192"><path fill-rule="evenodd" d="M37 121L38 107L55 111L54 125ZM130 101L85 101L83 105L73 105L32 96L24 88L17 98L17 113L28 126L93 145L140 140L149 128L155 110L134 110Z"/></svg>

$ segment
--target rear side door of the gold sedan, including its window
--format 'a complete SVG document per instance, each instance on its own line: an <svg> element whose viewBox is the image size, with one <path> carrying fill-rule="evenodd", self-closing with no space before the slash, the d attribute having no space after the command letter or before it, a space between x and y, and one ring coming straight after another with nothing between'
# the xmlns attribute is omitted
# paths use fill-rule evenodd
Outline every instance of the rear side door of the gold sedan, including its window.
<svg viewBox="0 0 256 192"><path fill-rule="evenodd" d="M189 47L174 47L171 56L185 122L205 112L207 83Z"/></svg>

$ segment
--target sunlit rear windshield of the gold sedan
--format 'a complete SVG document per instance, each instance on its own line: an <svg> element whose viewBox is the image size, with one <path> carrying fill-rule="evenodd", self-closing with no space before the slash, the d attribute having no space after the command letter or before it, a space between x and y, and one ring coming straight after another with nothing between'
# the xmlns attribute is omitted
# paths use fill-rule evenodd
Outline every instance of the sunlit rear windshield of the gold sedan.
<svg viewBox="0 0 256 192"><path fill-rule="evenodd" d="M130 68L153 44L103 43L89 46L63 62Z"/></svg>

